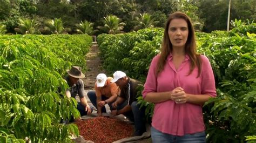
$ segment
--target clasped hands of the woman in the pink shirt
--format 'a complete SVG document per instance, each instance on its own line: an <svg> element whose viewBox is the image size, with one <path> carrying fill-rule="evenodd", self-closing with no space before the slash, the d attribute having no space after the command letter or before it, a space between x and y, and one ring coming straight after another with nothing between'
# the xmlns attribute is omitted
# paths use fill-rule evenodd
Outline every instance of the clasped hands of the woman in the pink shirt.
<svg viewBox="0 0 256 143"><path fill-rule="evenodd" d="M183 88L177 87L170 92L170 99L177 104L182 104L187 102L187 94L184 92Z"/></svg>

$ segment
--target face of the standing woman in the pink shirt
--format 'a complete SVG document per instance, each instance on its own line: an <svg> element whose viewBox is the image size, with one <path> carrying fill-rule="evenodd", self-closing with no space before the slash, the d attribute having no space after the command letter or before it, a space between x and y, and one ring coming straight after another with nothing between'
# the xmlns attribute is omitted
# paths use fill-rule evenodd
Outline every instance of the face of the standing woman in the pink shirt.
<svg viewBox="0 0 256 143"><path fill-rule="evenodd" d="M184 19L172 19L168 28L169 39L173 49L185 48L188 37L187 22Z"/></svg>

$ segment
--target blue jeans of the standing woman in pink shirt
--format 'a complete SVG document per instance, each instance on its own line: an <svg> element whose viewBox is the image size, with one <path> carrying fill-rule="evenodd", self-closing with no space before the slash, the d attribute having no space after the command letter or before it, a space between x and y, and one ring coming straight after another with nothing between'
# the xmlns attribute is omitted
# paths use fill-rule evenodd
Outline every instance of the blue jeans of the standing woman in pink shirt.
<svg viewBox="0 0 256 143"><path fill-rule="evenodd" d="M183 136L171 135L162 133L156 128L151 127L151 139L152 142L161 143L206 143L205 132L199 132L194 134L185 134Z"/></svg>

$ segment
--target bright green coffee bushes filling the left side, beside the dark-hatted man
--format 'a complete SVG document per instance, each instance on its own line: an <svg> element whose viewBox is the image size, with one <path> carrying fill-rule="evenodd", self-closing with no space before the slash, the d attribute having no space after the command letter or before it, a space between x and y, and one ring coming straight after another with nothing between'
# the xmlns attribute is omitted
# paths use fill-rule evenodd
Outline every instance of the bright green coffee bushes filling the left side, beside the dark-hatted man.
<svg viewBox="0 0 256 143"><path fill-rule="evenodd" d="M64 95L71 65L85 70L87 35L0 36L0 142L70 142L79 116L75 99ZM59 92L61 90L62 92Z"/></svg>

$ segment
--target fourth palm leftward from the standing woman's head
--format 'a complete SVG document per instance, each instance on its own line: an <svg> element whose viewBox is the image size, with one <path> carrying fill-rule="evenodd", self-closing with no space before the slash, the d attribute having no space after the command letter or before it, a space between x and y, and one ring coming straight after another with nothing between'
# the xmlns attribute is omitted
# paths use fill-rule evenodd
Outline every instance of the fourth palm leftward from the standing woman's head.
<svg viewBox="0 0 256 143"><path fill-rule="evenodd" d="M44 25L44 29L42 30L44 33L51 32L59 34L71 31L70 29L64 29L61 18L48 19L44 22Z"/></svg>

